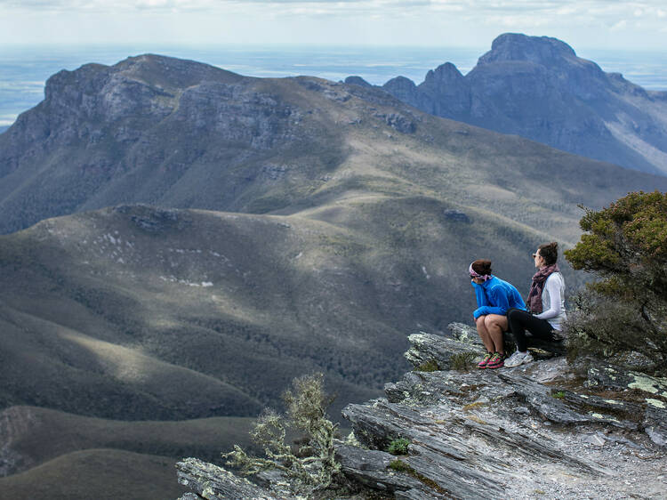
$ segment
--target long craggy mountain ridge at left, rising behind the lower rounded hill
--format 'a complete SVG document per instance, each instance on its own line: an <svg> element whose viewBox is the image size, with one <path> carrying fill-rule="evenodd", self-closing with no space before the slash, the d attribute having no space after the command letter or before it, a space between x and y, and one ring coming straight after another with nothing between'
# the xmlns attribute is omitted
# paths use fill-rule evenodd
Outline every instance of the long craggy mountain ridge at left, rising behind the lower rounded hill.
<svg viewBox="0 0 667 500"><path fill-rule="evenodd" d="M599 206L652 185L621 170L600 180L607 168L434 119L378 89L241 77L143 55L60 71L47 81L44 101L0 135L0 232L134 202L290 214L366 182L378 192L406 192L397 176L449 197L465 191L466 203L484 205L493 192L503 213L542 226L540 218L560 211L553 203ZM567 189L553 186L561 182ZM483 196L476 183L514 195ZM550 214L523 210L516 196L526 190ZM569 226L567 238L576 232Z"/></svg>

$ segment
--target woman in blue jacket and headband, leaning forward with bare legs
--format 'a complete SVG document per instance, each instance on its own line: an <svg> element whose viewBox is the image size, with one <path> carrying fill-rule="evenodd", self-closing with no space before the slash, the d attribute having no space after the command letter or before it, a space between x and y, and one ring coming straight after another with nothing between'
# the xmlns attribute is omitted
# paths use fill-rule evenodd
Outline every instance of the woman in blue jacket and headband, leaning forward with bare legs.
<svg viewBox="0 0 667 500"><path fill-rule="evenodd" d="M487 351L478 367L500 368L505 359L502 333L508 329L507 311L510 308L526 310L526 304L514 286L491 274L491 261L479 259L472 262L468 270L478 305L472 316Z"/></svg>

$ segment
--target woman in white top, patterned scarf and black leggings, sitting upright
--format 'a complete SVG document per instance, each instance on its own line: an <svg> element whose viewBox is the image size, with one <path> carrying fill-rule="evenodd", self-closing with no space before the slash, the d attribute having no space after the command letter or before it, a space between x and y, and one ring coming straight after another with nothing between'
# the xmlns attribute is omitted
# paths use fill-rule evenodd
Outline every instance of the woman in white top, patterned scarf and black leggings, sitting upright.
<svg viewBox="0 0 667 500"><path fill-rule="evenodd" d="M507 320L517 342L517 351L505 360L505 367L530 363L533 356L527 350L526 329L535 337L551 340L552 330L560 330L567 318L565 313L565 281L560 274L559 244L545 243L533 254L537 272L528 293L526 310L510 309Z"/></svg>

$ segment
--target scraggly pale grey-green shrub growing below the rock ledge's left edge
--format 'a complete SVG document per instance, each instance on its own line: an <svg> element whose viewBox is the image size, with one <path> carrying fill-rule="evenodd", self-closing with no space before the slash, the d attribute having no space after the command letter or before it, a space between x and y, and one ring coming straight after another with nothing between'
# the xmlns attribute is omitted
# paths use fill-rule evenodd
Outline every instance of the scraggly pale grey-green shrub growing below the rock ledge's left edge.
<svg viewBox="0 0 667 500"><path fill-rule="evenodd" d="M270 409L260 415L251 437L263 448L266 458L248 456L235 446L234 451L222 455L229 458L227 464L240 467L245 475L270 469L281 471L290 480L293 493L299 495L310 496L331 486L340 472L333 448L338 425L326 418L326 408L333 398L325 396L322 379L322 374L295 378L293 389L283 394L286 415L278 415ZM285 443L287 427L304 434L296 451Z"/></svg>

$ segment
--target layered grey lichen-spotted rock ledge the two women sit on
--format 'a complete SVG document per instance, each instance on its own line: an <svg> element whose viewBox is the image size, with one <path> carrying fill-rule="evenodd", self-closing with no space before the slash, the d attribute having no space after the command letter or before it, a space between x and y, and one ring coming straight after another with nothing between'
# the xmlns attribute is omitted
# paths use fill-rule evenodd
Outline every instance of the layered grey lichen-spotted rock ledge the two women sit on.
<svg viewBox="0 0 667 500"><path fill-rule="evenodd" d="M388 383L386 398L343 410L354 439L337 456L357 498L664 496L666 379L545 359L558 344L531 348L538 358L528 365L470 369L477 335L462 324L450 331L411 335L415 371ZM405 455L386 451L398 440ZM177 469L195 492L183 500L289 497L194 459Z"/></svg>

